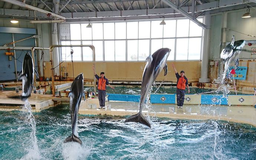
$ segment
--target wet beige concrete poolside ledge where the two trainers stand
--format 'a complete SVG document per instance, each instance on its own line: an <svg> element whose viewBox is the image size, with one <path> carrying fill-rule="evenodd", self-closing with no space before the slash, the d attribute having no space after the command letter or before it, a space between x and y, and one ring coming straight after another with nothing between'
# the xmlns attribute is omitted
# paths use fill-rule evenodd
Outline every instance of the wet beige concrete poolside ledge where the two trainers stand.
<svg viewBox="0 0 256 160"><path fill-rule="evenodd" d="M98 99L93 100L97 102ZM79 114L82 115L111 115L127 116L138 113L137 102L107 102L111 109L89 109L88 102L81 102ZM96 103L95 103L96 104ZM150 110L150 111L148 111ZM253 106L219 106L219 105L184 105L183 109L177 109L176 105L151 105L149 109L142 110L144 115L157 116L172 119L206 120L217 119L238 123L247 123L256 127L256 108Z"/></svg>

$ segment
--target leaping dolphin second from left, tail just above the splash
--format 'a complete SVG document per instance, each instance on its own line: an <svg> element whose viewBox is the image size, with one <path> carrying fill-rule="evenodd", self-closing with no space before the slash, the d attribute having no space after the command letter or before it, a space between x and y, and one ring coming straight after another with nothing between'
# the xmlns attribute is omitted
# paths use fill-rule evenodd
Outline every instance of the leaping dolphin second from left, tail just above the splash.
<svg viewBox="0 0 256 160"><path fill-rule="evenodd" d="M75 128L78 117L79 105L81 103L82 97L85 100L85 93L83 92L83 73L79 74L73 81L68 96L72 123L72 135L66 138L64 143L78 142L82 144L82 141L77 136L75 136Z"/></svg>

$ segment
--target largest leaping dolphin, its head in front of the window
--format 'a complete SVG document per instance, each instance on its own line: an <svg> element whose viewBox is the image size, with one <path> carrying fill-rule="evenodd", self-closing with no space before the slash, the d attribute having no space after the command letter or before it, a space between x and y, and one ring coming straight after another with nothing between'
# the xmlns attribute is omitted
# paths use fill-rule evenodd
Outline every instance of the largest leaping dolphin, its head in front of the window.
<svg viewBox="0 0 256 160"><path fill-rule="evenodd" d="M142 108L145 105L148 92L151 89L152 84L157 78L158 74L164 69L164 75L167 75L167 58L170 54L169 48L161 48L154 52L147 58L147 64L144 68L141 82L141 100L140 100L140 112L136 115L132 115L127 118L125 122L139 122L148 127L151 127L147 119L142 115Z"/></svg>

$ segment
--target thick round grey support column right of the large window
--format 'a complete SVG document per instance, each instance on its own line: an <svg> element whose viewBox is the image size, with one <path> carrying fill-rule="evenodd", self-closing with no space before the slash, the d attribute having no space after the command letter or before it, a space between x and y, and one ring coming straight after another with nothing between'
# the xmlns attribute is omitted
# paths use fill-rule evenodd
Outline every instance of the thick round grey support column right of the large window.
<svg viewBox="0 0 256 160"><path fill-rule="evenodd" d="M208 78L208 63L209 63L209 48L210 48L211 16L209 14L204 16L204 24L209 29L204 29L201 78L199 78L199 82L201 83L210 82L210 78Z"/></svg>

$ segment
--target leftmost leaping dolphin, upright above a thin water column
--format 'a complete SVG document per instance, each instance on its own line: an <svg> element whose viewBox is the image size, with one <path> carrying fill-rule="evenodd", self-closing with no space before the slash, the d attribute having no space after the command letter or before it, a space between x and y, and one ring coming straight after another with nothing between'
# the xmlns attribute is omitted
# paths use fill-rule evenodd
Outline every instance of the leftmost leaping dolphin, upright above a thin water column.
<svg viewBox="0 0 256 160"><path fill-rule="evenodd" d="M22 62L22 71L19 72L19 79L22 79L22 101L26 101L31 95L34 85L34 75L38 78L38 73L34 68L34 63L29 52L26 53Z"/></svg>

